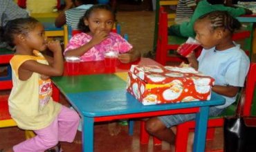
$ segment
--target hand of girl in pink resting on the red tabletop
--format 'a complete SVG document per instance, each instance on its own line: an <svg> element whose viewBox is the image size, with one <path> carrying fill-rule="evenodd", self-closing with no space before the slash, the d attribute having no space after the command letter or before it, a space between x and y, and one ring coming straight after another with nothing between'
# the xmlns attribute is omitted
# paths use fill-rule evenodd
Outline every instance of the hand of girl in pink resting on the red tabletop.
<svg viewBox="0 0 256 152"><path fill-rule="evenodd" d="M129 50L129 52L127 53L122 53L118 55L118 59L125 64L136 61L139 58L140 53L134 49Z"/></svg>

